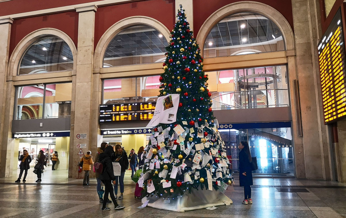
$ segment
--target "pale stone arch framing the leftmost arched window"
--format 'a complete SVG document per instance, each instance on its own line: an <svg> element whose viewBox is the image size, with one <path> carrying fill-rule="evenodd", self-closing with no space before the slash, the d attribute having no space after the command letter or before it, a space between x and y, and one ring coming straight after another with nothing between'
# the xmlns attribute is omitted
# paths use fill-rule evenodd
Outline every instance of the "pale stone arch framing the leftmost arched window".
<svg viewBox="0 0 346 218"><path fill-rule="evenodd" d="M22 55L27 50L27 48L35 41L47 36L59 37L62 40L64 40L67 43L67 45L69 45L73 55L73 69L74 70L76 69L77 49L72 39L61 30L54 29L54 28L43 28L43 29L38 29L29 33L17 44L16 48L13 50L10 57L8 76L17 76L19 62L21 60Z"/></svg>

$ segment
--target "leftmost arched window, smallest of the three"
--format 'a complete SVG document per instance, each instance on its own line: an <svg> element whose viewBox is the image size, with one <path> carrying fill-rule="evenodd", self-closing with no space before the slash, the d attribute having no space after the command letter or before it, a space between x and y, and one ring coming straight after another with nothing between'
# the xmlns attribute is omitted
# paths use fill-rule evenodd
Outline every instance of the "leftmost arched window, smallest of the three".
<svg viewBox="0 0 346 218"><path fill-rule="evenodd" d="M26 50L19 64L18 75L73 70L70 47L59 37L37 40Z"/></svg>

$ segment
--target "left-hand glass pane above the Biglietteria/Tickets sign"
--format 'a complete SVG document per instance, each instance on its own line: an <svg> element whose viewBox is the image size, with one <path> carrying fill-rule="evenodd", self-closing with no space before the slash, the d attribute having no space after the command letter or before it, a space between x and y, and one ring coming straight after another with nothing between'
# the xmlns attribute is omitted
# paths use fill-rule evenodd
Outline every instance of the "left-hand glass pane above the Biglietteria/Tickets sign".
<svg viewBox="0 0 346 218"><path fill-rule="evenodd" d="M17 87L15 119L42 118L44 86Z"/></svg>

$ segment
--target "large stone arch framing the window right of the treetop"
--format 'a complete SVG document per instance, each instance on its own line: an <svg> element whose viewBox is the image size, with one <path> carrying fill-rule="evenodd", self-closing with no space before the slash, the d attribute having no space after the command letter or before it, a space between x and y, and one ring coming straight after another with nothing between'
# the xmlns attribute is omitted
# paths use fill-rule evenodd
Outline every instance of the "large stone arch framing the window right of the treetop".
<svg viewBox="0 0 346 218"><path fill-rule="evenodd" d="M215 24L231 14L240 12L254 12L271 19L280 28L283 34L286 50L295 50L293 30L286 18L279 11L267 4L254 1L231 3L212 13L199 29L196 37L197 42L200 45L203 44L204 47L204 41ZM201 52L203 52L202 46Z"/></svg>

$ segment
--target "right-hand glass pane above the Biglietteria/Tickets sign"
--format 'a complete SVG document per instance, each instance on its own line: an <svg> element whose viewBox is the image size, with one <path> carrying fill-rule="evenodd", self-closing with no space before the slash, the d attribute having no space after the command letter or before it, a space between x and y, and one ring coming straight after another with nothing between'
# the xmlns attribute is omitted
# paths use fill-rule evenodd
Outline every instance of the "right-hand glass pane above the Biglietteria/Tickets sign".
<svg viewBox="0 0 346 218"><path fill-rule="evenodd" d="M71 115L72 83L46 85L45 118Z"/></svg>

